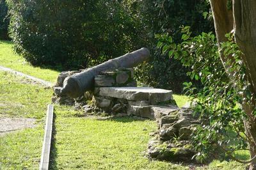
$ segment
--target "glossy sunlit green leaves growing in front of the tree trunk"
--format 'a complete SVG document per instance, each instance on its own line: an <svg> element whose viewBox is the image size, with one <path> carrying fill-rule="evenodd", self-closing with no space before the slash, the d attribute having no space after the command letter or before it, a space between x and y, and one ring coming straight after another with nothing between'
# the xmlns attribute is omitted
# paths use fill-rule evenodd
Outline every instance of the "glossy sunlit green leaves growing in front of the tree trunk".
<svg viewBox="0 0 256 170"><path fill-rule="evenodd" d="M234 61L227 61L228 71L221 63L218 54L216 38L212 33L191 37L189 27L182 29L181 43L174 43L172 36L161 35L158 47L170 58L179 60L184 66L191 68L187 74L191 79L202 82L204 88L195 88L193 83L185 82L185 89L191 97L196 98L195 112L200 112L202 118L207 117L207 123L197 128L193 137L196 158L203 161L216 153L216 148L225 154L234 157L234 151L247 150L248 143L252 142L244 132L244 120L249 119L237 104L250 101L249 83L245 76L245 66L241 59L241 51L233 36L227 35L228 42L221 45L225 56L232 56ZM230 81L230 77L232 79ZM247 91L246 97L241 93Z"/></svg>

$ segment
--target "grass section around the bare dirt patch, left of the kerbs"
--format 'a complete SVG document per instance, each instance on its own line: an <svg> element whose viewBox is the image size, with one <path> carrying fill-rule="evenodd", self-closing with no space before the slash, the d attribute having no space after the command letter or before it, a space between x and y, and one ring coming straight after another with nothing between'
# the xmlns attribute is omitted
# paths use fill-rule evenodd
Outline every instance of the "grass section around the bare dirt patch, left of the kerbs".
<svg viewBox="0 0 256 170"><path fill-rule="evenodd" d="M52 91L0 72L0 117L36 118L36 128L0 137L0 169L38 169Z"/></svg>

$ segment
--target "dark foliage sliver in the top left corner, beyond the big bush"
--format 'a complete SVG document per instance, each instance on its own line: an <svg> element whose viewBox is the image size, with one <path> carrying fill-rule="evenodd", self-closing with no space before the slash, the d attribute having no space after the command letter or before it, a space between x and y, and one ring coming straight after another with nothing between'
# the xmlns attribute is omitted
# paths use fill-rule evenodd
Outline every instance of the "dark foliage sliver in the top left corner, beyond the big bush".
<svg viewBox="0 0 256 170"><path fill-rule="evenodd" d="M0 0L0 40L8 40L8 7L5 0Z"/></svg>

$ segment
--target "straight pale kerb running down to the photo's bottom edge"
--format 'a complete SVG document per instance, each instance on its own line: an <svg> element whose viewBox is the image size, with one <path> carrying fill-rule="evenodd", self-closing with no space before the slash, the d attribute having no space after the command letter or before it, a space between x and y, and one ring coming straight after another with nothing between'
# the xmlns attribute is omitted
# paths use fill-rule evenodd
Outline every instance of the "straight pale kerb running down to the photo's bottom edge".
<svg viewBox="0 0 256 170"><path fill-rule="evenodd" d="M49 104L47 108L47 113L46 113L44 143L43 143L42 155L41 155L41 161L40 161L40 167L39 167L40 170L49 169L51 139L52 139L53 110L54 110L54 106Z"/></svg>

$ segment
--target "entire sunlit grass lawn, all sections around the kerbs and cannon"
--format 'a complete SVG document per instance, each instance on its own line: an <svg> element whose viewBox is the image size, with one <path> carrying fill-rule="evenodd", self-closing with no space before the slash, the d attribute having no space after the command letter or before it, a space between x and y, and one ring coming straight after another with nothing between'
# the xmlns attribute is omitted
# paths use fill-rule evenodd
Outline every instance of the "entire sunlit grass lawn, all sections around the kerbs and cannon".
<svg viewBox="0 0 256 170"><path fill-rule="evenodd" d="M58 72L33 68L15 56L12 44L0 44L0 65L11 67L35 77L45 79L44 73L52 73L54 81ZM3 50L3 48L5 50ZM8 52L9 51L9 52ZM10 54L9 61L3 54ZM8 62L13 62L12 64ZM22 62L19 62L22 61ZM27 71L27 72L26 72ZM56 73L54 76L53 74ZM42 77L37 76L42 75ZM19 130L0 137L0 169L38 169L47 104L51 102L51 89L28 84L23 78L0 72L0 116L35 118L37 127ZM174 95L179 106L188 97ZM157 129L155 121L134 118L111 120L84 118L81 111L71 107L55 106L54 140L51 169L189 169L188 166L148 160L145 157L149 133ZM241 152L242 158L248 153ZM220 162L197 169L244 169L237 162Z"/></svg>

